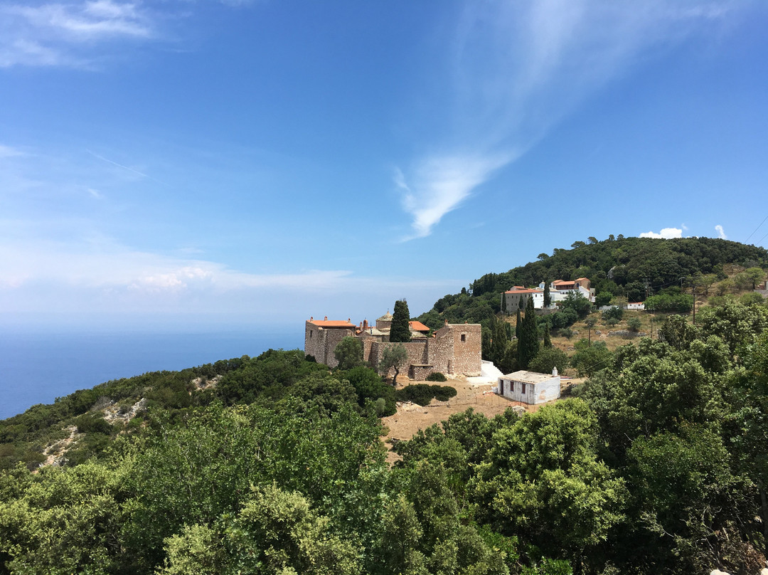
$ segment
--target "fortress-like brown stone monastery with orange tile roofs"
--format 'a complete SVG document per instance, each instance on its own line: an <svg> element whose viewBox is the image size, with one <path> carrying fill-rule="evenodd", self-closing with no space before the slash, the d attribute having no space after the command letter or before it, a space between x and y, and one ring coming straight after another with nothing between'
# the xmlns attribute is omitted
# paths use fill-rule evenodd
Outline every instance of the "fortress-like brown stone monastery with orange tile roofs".
<svg viewBox="0 0 768 575"><path fill-rule="evenodd" d="M411 341L402 346L408 352L408 360L402 373L413 380L425 380L429 374L480 375L482 337L480 324L445 323L432 336L429 327L419 321L409 322ZM381 361L384 348L389 345L389 328L392 314L387 312L370 325L363 320L358 325L347 321L333 321L326 317L316 320L310 317L304 326L304 353L312 355L329 367L339 364L333 351L344 337L359 337L362 341L362 359L372 365Z"/></svg>

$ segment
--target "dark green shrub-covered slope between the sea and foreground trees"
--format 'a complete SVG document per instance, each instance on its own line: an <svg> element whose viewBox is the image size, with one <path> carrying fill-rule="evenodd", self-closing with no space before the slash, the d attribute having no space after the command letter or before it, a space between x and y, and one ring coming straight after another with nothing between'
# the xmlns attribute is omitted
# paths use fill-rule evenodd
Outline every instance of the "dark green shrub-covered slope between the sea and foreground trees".
<svg viewBox="0 0 768 575"><path fill-rule="evenodd" d="M195 381L221 376L216 387L200 390ZM52 405L37 405L0 422L0 469L23 462L34 469L45 459L41 451L68 435L63 427L78 428L78 439L66 454L68 464L81 464L97 456L121 432L141 430L144 417L126 425L104 420L104 407L117 402L121 414L144 397L150 413L161 412L186 420L190 412L216 401L225 405L270 404L283 411L319 410L333 413L347 403L360 414L379 417L396 412L395 395L375 371L354 367L333 374L323 364L307 361L299 350L265 351L182 371L156 371L76 391Z"/></svg>

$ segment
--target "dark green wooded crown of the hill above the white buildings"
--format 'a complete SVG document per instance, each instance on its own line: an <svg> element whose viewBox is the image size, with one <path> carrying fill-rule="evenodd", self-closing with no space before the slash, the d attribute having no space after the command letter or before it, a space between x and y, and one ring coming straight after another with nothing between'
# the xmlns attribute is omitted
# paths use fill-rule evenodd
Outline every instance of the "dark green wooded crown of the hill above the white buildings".
<svg viewBox="0 0 768 575"><path fill-rule="evenodd" d="M485 274L469 290L448 294L432 310L419 316L429 327L448 321L478 323L500 310L500 297L515 285L536 286L541 281L589 278L598 292L609 291L643 301L649 293L680 285L680 280L713 274L725 278L723 266L768 267L768 251L753 245L714 238L624 238L612 235L604 241L588 238L575 241L571 249L555 248L551 255L539 254L537 261L503 273Z"/></svg>

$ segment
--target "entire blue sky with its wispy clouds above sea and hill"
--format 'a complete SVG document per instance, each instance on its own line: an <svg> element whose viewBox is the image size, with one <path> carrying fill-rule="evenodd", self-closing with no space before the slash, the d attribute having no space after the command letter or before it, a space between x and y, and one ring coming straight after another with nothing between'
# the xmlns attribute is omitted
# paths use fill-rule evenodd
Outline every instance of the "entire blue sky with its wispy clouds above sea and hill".
<svg viewBox="0 0 768 575"><path fill-rule="evenodd" d="M768 245L764 2L0 5L6 324L412 314L588 236Z"/></svg>

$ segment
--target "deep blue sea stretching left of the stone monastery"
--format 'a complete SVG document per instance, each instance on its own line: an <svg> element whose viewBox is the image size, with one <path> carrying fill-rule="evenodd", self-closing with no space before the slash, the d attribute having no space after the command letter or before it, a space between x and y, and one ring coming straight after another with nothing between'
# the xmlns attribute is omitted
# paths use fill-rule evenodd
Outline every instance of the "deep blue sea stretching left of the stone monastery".
<svg viewBox="0 0 768 575"><path fill-rule="evenodd" d="M0 420L104 381L303 346L299 330L6 332L0 334Z"/></svg>

